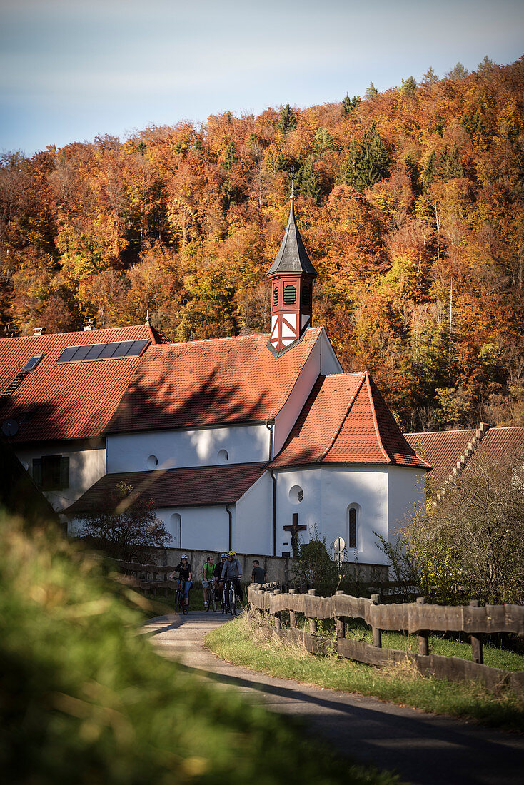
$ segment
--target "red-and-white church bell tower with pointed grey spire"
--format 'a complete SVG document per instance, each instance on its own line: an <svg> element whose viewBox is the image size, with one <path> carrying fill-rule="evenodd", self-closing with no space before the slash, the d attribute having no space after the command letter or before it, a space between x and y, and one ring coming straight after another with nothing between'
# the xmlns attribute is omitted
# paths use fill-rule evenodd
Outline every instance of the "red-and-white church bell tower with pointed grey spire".
<svg viewBox="0 0 524 785"><path fill-rule="evenodd" d="M310 262L295 221L295 197L277 258L268 272L271 281L271 334L268 348L280 355L311 327L313 279L317 271Z"/></svg>

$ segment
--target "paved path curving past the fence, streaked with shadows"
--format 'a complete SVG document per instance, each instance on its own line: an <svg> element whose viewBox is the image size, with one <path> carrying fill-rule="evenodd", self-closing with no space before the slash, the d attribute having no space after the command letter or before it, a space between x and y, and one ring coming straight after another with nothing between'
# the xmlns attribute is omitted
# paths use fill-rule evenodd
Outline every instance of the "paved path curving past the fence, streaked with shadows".
<svg viewBox="0 0 524 785"><path fill-rule="evenodd" d="M163 655L203 672L218 685L234 685L270 710L302 717L316 736L324 736L342 754L394 769L407 783L524 783L522 736L230 665L202 642L225 620L222 614L173 614L151 619L145 631Z"/></svg>

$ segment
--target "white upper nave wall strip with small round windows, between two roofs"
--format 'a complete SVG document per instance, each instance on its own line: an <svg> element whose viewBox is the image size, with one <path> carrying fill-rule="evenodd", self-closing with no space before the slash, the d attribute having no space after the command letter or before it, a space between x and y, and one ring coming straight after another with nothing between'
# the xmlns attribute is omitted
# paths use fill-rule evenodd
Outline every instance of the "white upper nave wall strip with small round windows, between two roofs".
<svg viewBox="0 0 524 785"><path fill-rule="evenodd" d="M269 439L263 424L116 434L107 437L108 473L265 462Z"/></svg>

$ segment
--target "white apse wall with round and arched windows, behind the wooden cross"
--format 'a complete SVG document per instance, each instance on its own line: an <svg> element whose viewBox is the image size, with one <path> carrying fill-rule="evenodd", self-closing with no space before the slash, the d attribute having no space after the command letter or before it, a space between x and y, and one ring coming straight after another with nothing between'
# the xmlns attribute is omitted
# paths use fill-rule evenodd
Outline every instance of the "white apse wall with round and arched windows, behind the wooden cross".
<svg viewBox="0 0 524 785"><path fill-rule="evenodd" d="M297 488L303 491L298 502ZM309 542L315 528L332 555L335 538L348 542L350 505L357 507L357 561L365 564L387 564L377 546L374 532L388 537L388 467L319 466L277 473L277 555L291 550L291 534L284 531L293 513L299 514L299 525L308 529L299 533L301 542ZM347 553L355 560L354 550Z"/></svg>

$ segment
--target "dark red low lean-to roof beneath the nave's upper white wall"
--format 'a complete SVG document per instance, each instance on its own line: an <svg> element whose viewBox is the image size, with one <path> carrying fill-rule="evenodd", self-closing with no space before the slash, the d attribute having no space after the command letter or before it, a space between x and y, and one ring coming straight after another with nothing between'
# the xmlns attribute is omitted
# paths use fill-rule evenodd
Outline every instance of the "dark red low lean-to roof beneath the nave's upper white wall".
<svg viewBox="0 0 524 785"><path fill-rule="evenodd" d="M153 498L157 508L233 504L262 476L265 468L264 463L248 463L106 474L64 512L73 515L99 509L123 480Z"/></svg>

